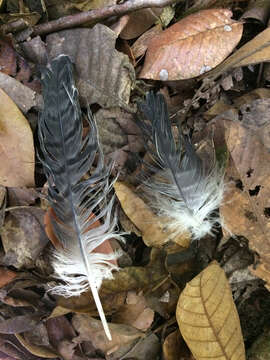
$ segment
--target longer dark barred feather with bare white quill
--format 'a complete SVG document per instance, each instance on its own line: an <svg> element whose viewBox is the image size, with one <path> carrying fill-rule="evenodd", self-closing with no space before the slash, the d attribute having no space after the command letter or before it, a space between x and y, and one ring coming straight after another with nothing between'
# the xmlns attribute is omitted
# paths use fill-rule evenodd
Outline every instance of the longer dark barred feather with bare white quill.
<svg viewBox="0 0 270 360"><path fill-rule="evenodd" d="M54 233L63 245L55 250L53 267L62 280L52 291L64 296L80 295L91 289L104 330L110 330L99 299L104 278L112 278L116 254L93 252L114 232L113 201L107 200L111 166L104 164L97 127L89 114L90 131L83 126L70 59L61 55L43 71L44 110L39 119L39 140L49 190L48 200L56 215L51 217ZM93 167L94 160L97 162ZM90 177L86 173L91 170ZM93 214L95 214L93 216ZM100 221L100 226L96 226ZM95 226L93 226L95 224Z"/></svg>

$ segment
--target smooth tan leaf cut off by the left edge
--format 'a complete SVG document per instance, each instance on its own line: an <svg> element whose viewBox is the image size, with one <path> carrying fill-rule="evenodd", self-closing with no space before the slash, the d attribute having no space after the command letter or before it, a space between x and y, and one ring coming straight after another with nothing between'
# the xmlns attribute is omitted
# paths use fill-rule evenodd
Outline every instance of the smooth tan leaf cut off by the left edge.
<svg viewBox="0 0 270 360"><path fill-rule="evenodd" d="M0 184L33 186L35 155L28 121L0 89Z"/></svg>

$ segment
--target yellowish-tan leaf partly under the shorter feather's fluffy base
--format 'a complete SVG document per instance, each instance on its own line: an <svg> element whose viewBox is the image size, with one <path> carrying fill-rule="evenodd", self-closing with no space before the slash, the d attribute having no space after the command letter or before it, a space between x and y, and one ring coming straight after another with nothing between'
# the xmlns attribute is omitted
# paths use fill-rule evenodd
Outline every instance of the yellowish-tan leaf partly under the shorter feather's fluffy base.
<svg viewBox="0 0 270 360"><path fill-rule="evenodd" d="M166 226L166 218L155 215L150 207L129 186L117 181L114 184L114 189L122 209L141 231L143 241L147 246L160 247L169 240L183 247L189 246L190 234L173 236Z"/></svg>

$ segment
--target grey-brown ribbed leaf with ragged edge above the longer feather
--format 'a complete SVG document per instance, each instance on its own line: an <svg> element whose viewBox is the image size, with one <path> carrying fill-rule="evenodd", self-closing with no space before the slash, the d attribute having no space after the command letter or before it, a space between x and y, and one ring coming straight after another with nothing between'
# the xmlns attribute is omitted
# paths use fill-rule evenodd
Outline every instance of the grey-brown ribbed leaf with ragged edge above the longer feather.
<svg viewBox="0 0 270 360"><path fill-rule="evenodd" d="M97 24L93 29L50 34L47 46L50 58L66 54L73 60L83 104L120 106L130 111L128 103L135 73L128 57L115 49L116 38L108 27Z"/></svg>

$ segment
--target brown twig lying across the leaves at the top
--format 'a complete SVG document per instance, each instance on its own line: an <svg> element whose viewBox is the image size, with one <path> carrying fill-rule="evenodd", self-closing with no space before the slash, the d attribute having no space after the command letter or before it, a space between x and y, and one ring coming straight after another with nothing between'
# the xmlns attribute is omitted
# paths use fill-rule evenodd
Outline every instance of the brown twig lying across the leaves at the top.
<svg viewBox="0 0 270 360"><path fill-rule="evenodd" d="M54 31L79 26L88 22L104 20L111 16L122 16L139 9L164 7L179 1L183 0L128 0L123 4L63 16L60 19L36 25L33 28L33 35L44 35Z"/></svg>

